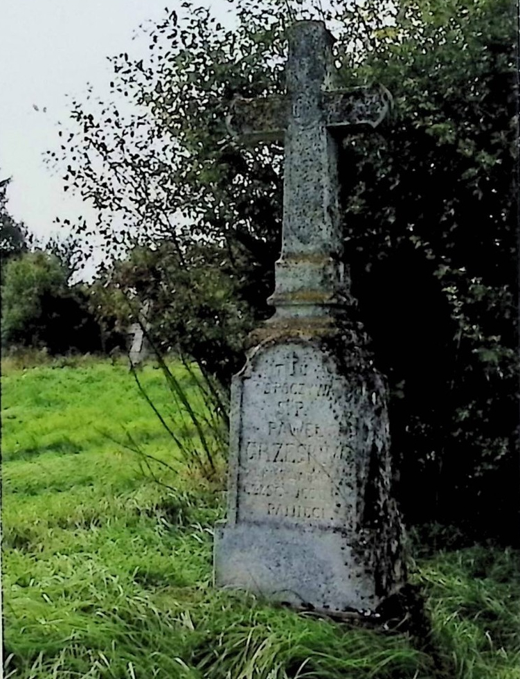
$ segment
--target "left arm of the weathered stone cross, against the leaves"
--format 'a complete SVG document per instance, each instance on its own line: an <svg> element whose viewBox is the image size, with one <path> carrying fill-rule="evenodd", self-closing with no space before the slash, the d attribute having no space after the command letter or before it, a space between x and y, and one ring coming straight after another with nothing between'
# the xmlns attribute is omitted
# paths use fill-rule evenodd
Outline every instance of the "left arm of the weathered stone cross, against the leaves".
<svg viewBox="0 0 520 679"><path fill-rule="evenodd" d="M289 121L290 105L285 96L260 99L235 98L226 125L233 136L246 143L283 139Z"/></svg>

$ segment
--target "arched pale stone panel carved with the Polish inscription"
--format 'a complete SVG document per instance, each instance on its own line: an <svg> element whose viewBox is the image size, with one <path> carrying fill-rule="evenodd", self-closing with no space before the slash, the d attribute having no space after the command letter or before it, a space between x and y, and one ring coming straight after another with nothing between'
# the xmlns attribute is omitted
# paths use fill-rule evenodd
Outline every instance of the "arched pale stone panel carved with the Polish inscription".
<svg viewBox="0 0 520 679"><path fill-rule="evenodd" d="M239 520L348 524L355 420L346 381L323 361L308 345L276 346L244 379Z"/></svg>

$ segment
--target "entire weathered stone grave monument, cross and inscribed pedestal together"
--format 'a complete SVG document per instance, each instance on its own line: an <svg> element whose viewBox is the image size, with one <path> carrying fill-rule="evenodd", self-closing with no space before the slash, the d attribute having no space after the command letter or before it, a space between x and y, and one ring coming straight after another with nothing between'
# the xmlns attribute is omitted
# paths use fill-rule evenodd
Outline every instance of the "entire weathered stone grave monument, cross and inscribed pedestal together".
<svg viewBox="0 0 520 679"><path fill-rule="evenodd" d="M386 385L350 313L336 152L339 133L382 121L388 96L334 91L332 41L319 21L294 24L287 96L237 100L228 118L246 140L284 139L283 246L276 313L233 378L214 578L339 612L375 610L404 569Z"/></svg>

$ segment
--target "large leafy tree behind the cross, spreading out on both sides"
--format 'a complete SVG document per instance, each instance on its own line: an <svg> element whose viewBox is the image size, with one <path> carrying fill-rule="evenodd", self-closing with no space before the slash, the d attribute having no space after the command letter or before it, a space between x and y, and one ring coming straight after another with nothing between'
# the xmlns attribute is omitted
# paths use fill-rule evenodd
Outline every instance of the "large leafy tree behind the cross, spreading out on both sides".
<svg viewBox="0 0 520 679"><path fill-rule="evenodd" d="M233 96L283 89L285 27L303 3L242 2L233 30L186 6L152 31L146 63L113 60L114 91L141 107L134 118L73 103L64 181L93 201L109 241L117 213L120 242L168 236L183 267L206 238L233 276L255 270L258 318L280 247L282 148L242 148L224 118ZM496 534L518 483L514 6L334 8L324 16L343 85L382 82L394 98L384 130L343 143L340 176L346 265L391 384L402 502L413 520Z"/></svg>

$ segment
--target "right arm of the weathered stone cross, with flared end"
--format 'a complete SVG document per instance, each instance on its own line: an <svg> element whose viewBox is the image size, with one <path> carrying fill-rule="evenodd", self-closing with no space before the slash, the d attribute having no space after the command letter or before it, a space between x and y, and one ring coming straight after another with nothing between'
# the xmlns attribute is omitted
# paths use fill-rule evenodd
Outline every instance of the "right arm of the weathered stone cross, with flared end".
<svg viewBox="0 0 520 679"><path fill-rule="evenodd" d="M327 127L377 127L391 109L392 96L382 85L359 87L325 92L323 103Z"/></svg>

